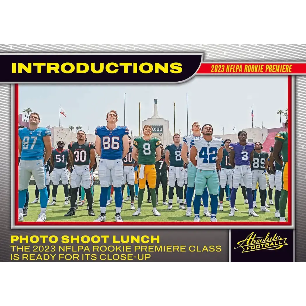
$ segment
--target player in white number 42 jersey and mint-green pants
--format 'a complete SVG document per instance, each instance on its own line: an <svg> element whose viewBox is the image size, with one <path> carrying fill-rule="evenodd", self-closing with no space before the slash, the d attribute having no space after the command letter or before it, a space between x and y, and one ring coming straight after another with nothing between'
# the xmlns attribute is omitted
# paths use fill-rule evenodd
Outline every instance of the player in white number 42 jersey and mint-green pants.
<svg viewBox="0 0 306 306"><path fill-rule="evenodd" d="M222 160L224 142L222 138L213 137L211 124L204 124L201 132L203 137L194 138L190 142L190 161L196 167L195 197L193 200L194 222L200 222L201 197L207 186L211 198L211 222L217 222L219 179L217 161ZM218 162L218 168L221 169Z"/></svg>

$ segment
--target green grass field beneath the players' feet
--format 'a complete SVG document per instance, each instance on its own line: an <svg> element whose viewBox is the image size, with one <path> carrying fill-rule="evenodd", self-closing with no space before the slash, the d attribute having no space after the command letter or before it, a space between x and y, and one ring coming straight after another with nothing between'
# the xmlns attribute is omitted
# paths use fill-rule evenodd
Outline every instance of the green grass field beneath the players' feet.
<svg viewBox="0 0 306 306"><path fill-rule="evenodd" d="M50 202L52 201L52 186L50 186L51 192L50 192ZM268 188L267 188L268 189ZM35 199L35 185L29 186L29 193L30 193L30 200L29 200L29 206L28 206L28 216L24 217L24 222L35 222L39 212L40 212L40 205L39 203L31 204L31 202ZM275 189L274 189L275 190ZM48 204L47 207L47 220L46 222L92 222L97 218L100 214L100 207L99 207L99 196L100 196L100 185L95 185L95 193L94 193L94 205L93 209L95 211L96 217L90 217L88 216L88 211L86 210L86 201L85 205L80 206L78 210L76 211L76 215L72 217L64 217L64 214L69 210L69 205L64 206L64 190L62 185L58 186L58 193L56 202L57 204L54 206L50 206ZM225 194L224 194L225 196ZM124 192L124 199L127 197L127 192L125 188ZM157 206L157 210L161 214L160 217L155 217L152 212L152 203L147 203L147 189L144 192L144 203L142 204L141 209L141 215L137 217L133 217L132 214L134 211L130 210L130 201L127 201L126 203L123 203L123 209L121 210L121 216L123 221L125 222L192 222L194 215L192 214L191 217L185 217L184 210L178 209L178 203L174 203L174 207L172 210L167 210L167 206L162 205L162 187L159 188L158 193L158 200L159 205ZM176 194L174 192L174 199L176 199ZM225 199L225 197L224 197ZM168 197L167 197L168 200ZM273 200L274 200L274 192L273 192ZM174 201L176 202L176 200ZM270 213L265 213L260 211L260 196L259 192L257 192L257 198L256 198L257 208L255 208L255 211L257 215L259 215L258 218L254 218L248 215L248 205L244 204L244 198L241 193L241 188L237 191L237 198L236 198L236 207L239 209L239 211L235 212L234 217L229 217L229 211L230 211L230 202L223 202L223 211L217 212L217 220L218 222L278 222L279 218L274 217L275 213L275 205L272 205L271 208L268 208L271 210ZM137 201L135 201L135 207L137 209ZM208 206L209 211L210 205ZM192 209L193 213L193 209ZM110 206L106 207L106 221L108 222L114 222L115 221L115 203L114 200L110 204ZM288 217L288 206L286 209L286 221ZM207 218L203 216L203 206L201 206L200 209L200 218L202 222L209 222L210 218Z"/></svg>

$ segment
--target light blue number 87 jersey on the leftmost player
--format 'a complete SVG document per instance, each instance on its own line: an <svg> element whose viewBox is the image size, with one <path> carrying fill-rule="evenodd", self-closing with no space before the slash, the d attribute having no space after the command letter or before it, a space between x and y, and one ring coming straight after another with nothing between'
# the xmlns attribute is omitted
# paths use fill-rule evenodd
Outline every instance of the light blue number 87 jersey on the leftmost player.
<svg viewBox="0 0 306 306"><path fill-rule="evenodd" d="M43 159L45 144L44 136L51 136L51 131L47 128L38 128L34 131L28 128L18 129L18 135L21 138L21 160Z"/></svg>

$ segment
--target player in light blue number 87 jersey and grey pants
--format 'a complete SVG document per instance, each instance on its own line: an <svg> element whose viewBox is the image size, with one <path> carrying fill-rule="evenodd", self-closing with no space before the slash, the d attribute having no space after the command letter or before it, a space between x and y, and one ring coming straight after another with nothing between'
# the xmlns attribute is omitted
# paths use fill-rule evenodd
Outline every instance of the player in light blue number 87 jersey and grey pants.
<svg viewBox="0 0 306 306"><path fill-rule="evenodd" d="M40 117L37 113L31 113L29 128L18 129L18 150L21 155L18 176L18 221L23 221L23 208L26 202L26 194L33 175L40 193L40 213L37 222L46 221L46 209L48 191L46 183L47 163L52 153L51 131L47 128L39 128ZM45 151L46 149L46 151ZM44 155L45 151L45 155Z"/></svg>

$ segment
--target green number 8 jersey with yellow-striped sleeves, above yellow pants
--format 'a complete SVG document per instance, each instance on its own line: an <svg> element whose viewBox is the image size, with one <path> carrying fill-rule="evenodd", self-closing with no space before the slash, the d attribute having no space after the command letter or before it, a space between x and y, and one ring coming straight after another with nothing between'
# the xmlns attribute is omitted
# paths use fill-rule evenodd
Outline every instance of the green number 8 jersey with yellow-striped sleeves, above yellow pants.
<svg viewBox="0 0 306 306"><path fill-rule="evenodd" d="M136 137L133 145L138 149L139 165L155 165L155 149L160 146L158 138L145 140L144 137Z"/></svg>

